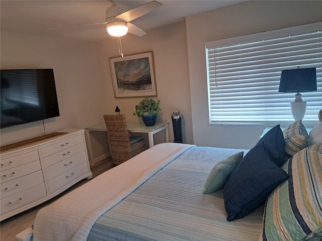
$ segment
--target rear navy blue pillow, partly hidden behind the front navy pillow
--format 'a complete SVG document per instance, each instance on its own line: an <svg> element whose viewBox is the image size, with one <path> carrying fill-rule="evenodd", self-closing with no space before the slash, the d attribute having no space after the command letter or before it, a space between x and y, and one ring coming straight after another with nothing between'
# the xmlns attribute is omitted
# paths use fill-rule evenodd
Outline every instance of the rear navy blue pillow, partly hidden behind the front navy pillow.
<svg viewBox="0 0 322 241"><path fill-rule="evenodd" d="M271 159L281 167L284 162L285 155L285 141L283 132L280 128L280 125L273 127L269 130L262 138L259 140L259 143L264 143L264 146L270 155Z"/></svg>

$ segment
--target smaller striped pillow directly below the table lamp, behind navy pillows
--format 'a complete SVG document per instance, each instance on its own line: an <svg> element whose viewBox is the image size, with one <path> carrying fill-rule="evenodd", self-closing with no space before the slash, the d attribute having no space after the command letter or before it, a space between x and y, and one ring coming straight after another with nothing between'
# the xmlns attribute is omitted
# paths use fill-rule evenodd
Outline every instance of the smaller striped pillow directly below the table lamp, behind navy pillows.
<svg viewBox="0 0 322 241"><path fill-rule="evenodd" d="M283 130L285 141L285 156L291 157L310 145L307 131L301 120L293 122Z"/></svg>

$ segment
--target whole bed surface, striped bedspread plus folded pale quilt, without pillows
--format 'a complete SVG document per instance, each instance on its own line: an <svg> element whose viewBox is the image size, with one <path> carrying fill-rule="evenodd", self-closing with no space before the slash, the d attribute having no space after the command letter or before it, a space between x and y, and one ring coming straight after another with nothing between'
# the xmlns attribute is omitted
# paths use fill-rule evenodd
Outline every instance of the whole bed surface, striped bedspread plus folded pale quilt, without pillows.
<svg viewBox="0 0 322 241"><path fill-rule="evenodd" d="M42 208L34 241L258 240L264 207L228 222L222 190L202 193L213 166L240 151L158 144Z"/></svg>

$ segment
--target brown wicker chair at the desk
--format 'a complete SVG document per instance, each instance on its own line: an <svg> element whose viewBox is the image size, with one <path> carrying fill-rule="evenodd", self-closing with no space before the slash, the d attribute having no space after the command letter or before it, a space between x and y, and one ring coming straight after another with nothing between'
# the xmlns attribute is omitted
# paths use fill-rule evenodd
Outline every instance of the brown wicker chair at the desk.
<svg viewBox="0 0 322 241"><path fill-rule="evenodd" d="M129 136L124 114L105 114L103 117L109 135L112 162L115 165L119 165L148 149L142 137Z"/></svg>

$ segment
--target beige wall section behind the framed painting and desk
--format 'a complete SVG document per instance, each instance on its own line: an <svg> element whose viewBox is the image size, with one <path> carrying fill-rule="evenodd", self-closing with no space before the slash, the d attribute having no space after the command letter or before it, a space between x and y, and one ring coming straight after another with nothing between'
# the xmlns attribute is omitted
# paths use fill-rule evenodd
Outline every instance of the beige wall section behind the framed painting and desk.
<svg viewBox="0 0 322 241"><path fill-rule="evenodd" d="M182 113L183 141L193 144L185 22L147 31L147 34L142 37L127 34L121 37L121 43L125 56L153 52L157 86L157 97L153 98L160 99L160 107L162 108L162 112L157 116L157 122L170 122L170 137L173 141L171 114L174 110L179 110ZM96 48L100 78L104 86L105 112L114 114L115 107L119 106L127 121L142 122L142 119L134 116L133 112L135 105L145 97L114 97L109 58L119 57L117 39L109 37L104 41L97 42Z"/></svg>

